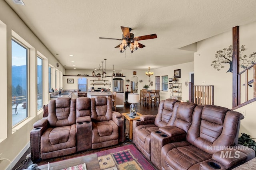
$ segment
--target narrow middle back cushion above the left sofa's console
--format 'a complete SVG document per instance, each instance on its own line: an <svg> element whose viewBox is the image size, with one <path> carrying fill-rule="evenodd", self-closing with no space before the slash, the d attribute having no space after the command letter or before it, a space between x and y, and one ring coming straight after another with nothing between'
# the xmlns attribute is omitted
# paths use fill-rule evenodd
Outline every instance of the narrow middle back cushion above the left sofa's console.
<svg viewBox="0 0 256 170"><path fill-rule="evenodd" d="M90 116L91 117L91 100L83 97L76 99L76 117Z"/></svg>

